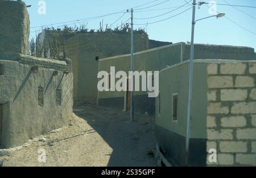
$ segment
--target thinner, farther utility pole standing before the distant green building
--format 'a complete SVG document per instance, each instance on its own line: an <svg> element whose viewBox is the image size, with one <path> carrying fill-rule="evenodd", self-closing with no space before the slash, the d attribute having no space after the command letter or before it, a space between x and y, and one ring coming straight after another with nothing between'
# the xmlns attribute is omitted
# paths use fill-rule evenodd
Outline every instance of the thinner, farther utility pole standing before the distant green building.
<svg viewBox="0 0 256 178"><path fill-rule="evenodd" d="M131 9L131 108L130 108L130 117L131 122L134 121L134 82L133 82L133 72L134 72L134 40L133 40L133 9Z"/></svg>

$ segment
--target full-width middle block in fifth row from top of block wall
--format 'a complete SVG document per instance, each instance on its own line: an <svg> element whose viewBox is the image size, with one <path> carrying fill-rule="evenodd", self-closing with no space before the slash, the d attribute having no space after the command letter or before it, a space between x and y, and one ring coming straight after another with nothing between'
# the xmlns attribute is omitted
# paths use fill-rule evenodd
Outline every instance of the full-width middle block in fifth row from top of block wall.
<svg viewBox="0 0 256 178"><path fill-rule="evenodd" d="M244 127L246 126L246 118L244 116L233 116L221 118L222 127Z"/></svg>

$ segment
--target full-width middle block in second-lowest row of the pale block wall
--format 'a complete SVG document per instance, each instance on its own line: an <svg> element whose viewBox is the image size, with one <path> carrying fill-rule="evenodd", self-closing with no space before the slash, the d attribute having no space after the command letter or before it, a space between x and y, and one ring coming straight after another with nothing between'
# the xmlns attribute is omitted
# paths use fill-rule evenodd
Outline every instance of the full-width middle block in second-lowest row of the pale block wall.
<svg viewBox="0 0 256 178"><path fill-rule="evenodd" d="M221 152L247 152L247 142L220 142L220 151Z"/></svg>

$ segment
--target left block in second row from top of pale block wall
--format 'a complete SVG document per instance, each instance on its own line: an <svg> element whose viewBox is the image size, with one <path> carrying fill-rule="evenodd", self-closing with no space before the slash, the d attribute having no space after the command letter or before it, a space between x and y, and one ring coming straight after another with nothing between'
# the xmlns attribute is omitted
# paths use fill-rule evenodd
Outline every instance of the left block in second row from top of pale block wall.
<svg viewBox="0 0 256 178"><path fill-rule="evenodd" d="M209 88L233 88L232 76L209 76L208 77Z"/></svg>

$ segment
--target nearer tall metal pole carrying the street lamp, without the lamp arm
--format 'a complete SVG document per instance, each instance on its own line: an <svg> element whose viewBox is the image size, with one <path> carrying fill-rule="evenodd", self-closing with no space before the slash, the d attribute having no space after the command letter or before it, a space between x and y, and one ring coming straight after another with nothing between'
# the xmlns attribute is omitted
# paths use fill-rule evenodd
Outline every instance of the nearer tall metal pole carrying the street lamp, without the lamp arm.
<svg viewBox="0 0 256 178"><path fill-rule="evenodd" d="M188 165L189 157L189 141L190 141L190 122L191 122L191 98L192 98L192 82L193 82L193 60L194 60L194 34L195 34L195 16L196 16L196 0L193 0L192 14L192 31L191 31L191 49L189 58L189 81L188 81L188 110L187 110L187 134L185 143L185 155Z"/></svg>

